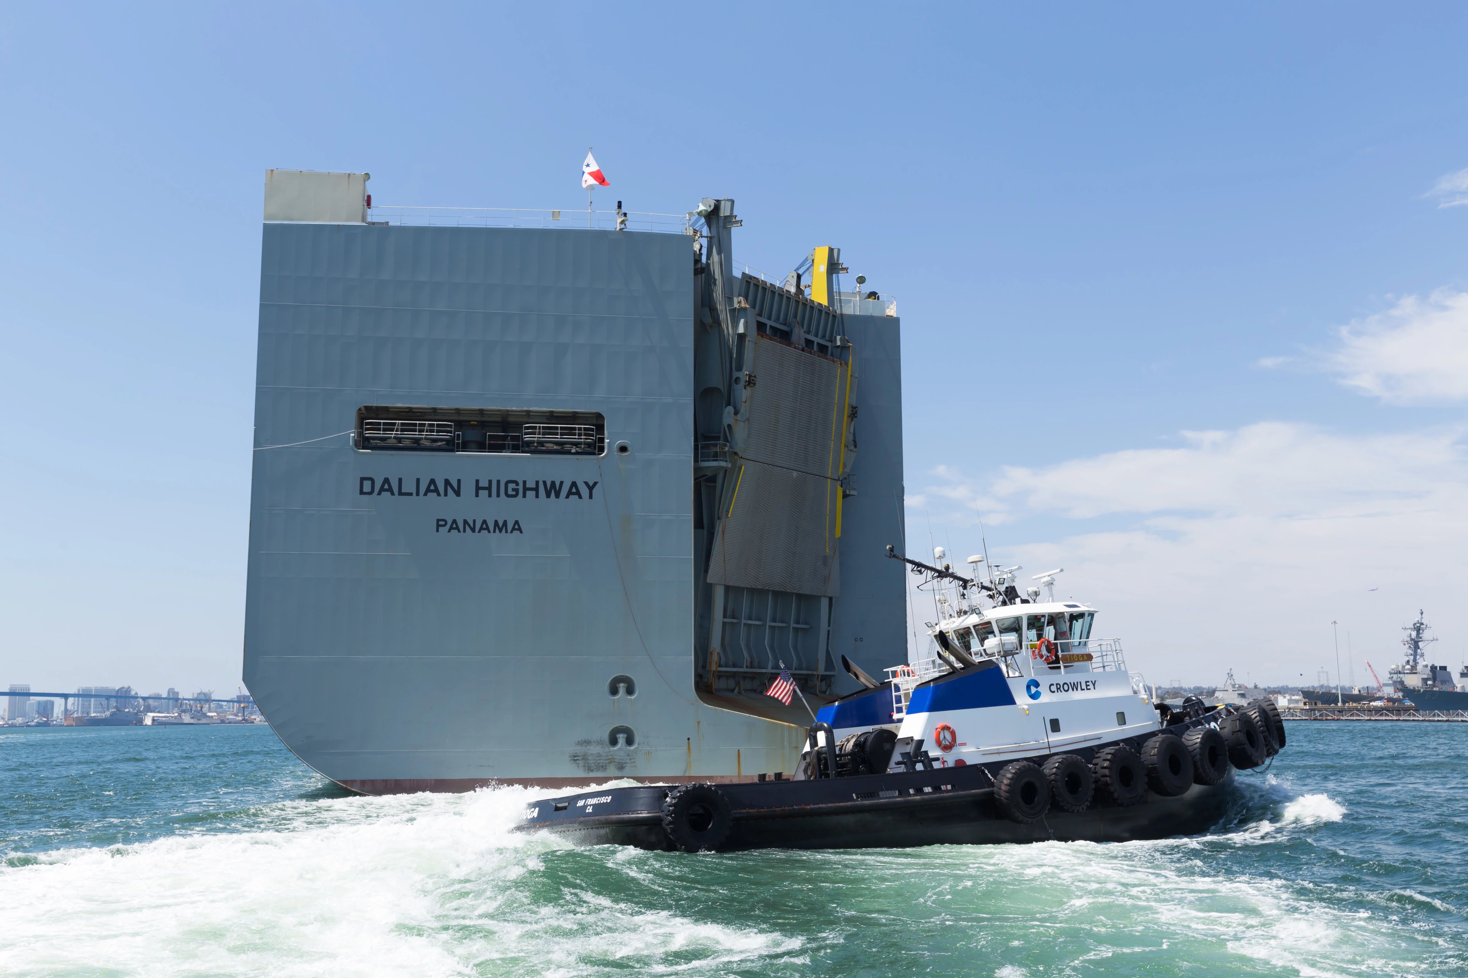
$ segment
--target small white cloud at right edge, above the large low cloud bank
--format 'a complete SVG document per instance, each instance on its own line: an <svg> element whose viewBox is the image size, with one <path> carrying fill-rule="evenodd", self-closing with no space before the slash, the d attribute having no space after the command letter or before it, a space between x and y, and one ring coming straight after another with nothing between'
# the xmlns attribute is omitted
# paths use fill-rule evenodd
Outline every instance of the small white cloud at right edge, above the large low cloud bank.
<svg viewBox="0 0 1468 978"><path fill-rule="evenodd" d="M1323 364L1349 387L1399 405L1468 399L1468 292L1408 296L1339 339Z"/></svg>

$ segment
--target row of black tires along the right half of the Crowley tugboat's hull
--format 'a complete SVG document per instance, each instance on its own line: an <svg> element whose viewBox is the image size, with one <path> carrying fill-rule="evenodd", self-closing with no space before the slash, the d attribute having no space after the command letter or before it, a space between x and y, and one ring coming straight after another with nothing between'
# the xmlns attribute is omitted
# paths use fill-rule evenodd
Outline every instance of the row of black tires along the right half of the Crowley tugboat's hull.
<svg viewBox="0 0 1468 978"><path fill-rule="evenodd" d="M1183 736L1158 733L1138 754L1124 743L1097 751L1091 764L1075 754L1057 754L1044 767L1029 761L1007 764L994 780L1000 811L1013 821L1033 823L1051 805L1085 811L1100 793L1105 802L1138 805L1147 792L1183 795L1193 784L1220 784L1229 768L1251 770L1284 746L1284 721L1273 699L1255 699L1214 727L1193 727Z"/></svg>

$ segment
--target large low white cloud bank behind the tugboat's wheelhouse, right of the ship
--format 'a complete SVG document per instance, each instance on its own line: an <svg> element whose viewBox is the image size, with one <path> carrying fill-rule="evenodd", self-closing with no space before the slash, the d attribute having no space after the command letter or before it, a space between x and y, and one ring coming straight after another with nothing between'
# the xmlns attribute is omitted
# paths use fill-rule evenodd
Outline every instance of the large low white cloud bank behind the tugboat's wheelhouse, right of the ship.
<svg viewBox="0 0 1468 978"><path fill-rule="evenodd" d="M947 523L972 522L972 501L1025 519L1028 540L985 516L991 557L1064 566L1057 594L1101 607L1101 630L1122 636L1149 679L1210 682L1233 667L1240 679L1314 680L1334 667L1339 620L1342 657L1353 633L1365 682L1362 660L1384 674L1418 607L1439 625L1445 661L1462 655L1468 628L1450 617L1468 584L1461 435L1257 424L1183 433L1179 447L1006 468L972 485L947 478L925 496ZM954 509L940 512L940 499ZM969 532L953 547L976 544Z"/></svg>

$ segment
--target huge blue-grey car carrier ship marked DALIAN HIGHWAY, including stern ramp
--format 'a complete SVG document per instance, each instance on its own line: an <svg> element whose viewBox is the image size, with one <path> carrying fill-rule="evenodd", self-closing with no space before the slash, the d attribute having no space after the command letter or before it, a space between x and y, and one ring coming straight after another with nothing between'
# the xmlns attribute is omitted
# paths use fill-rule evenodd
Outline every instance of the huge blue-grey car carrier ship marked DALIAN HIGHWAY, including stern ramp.
<svg viewBox="0 0 1468 978"><path fill-rule="evenodd" d="M266 174L244 679L364 793L752 780L906 650L895 302L683 214Z"/></svg>

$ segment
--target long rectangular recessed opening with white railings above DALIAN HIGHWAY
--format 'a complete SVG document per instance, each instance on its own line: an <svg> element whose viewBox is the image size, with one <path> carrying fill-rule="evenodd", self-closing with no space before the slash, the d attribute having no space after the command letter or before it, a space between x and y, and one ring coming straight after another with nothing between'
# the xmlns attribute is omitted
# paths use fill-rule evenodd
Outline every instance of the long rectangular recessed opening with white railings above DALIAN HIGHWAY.
<svg viewBox="0 0 1468 978"><path fill-rule="evenodd" d="M596 411L366 405L357 409L354 443L363 452L603 455L606 418Z"/></svg>

